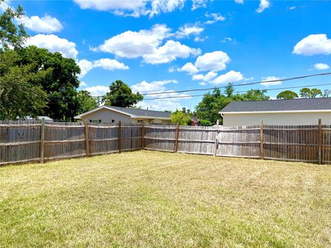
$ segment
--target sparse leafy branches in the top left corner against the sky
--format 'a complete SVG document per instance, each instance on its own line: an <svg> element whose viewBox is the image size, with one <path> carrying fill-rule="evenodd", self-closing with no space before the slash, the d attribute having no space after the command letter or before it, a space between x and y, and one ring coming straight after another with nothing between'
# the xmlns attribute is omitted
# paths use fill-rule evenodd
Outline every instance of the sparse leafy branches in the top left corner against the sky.
<svg viewBox="0 0 331 248"><path fill-rule="evenodd" d="M3 0L0 0L1 4L3 4ZM17 10L7 8L0 15L0 43L2 50L22 48L28 34L22 24L15 24L16 19L21 17L23 17L23 8L21 6L18 6Z"/></svg>

